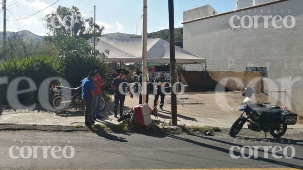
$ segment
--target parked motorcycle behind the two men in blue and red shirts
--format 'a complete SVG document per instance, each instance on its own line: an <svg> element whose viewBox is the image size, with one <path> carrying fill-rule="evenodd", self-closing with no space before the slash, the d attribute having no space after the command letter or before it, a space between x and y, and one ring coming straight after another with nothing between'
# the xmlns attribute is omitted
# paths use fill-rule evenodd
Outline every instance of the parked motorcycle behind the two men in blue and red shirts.
<svg viewBox="0 0 303 170"><path fill-rule="evenodd" d="M68 89L72 91L71 96L66 96L62 94L62 90ZM82 85L77 88L68 88L64 86L55 86L49 89L49 98L51 104L58 110L67 108L71 103L73 107L79 107L84 105L84 100L82 99ZM106 102L103 97L100 99L100 109L102 111L106 106Z"/></svg>

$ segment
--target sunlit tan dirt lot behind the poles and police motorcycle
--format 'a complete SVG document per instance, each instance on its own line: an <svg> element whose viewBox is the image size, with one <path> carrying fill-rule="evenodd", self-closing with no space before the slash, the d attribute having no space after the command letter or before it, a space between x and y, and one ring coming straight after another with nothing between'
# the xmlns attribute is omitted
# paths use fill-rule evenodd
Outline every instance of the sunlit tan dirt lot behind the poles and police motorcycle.
<svg viewBox="0 0 303 170"><path fill-rule="evenodd" d="M183 125L209 125L220 128L230 128L239 117L238 107L244 97L240 92L186 92L177 95L178 124ZM254 94L252 100L271 102L274 105L284 106L282 103L265 94ZM149 95L148 104L152 106L154 95ZM160 104L160 101L158 101ZM138 96L131 99L127 96L125 105L132 107L138 104ZM158 107L159 108L159 107ZM164 110L158 110L160 121L170 121L171 100L170 95L165 96ZM303 120L299 121L300 124Z"/></svg>

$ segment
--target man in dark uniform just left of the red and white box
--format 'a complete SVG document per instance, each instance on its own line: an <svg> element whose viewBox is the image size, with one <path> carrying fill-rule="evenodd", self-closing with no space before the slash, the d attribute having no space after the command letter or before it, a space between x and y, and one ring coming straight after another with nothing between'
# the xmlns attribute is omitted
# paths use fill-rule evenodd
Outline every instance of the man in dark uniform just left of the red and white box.
<svg viewBox="0 0 303 170"><path fill-rule="evenodd" d="M120 84L122 84L122 85L120 86ZM115 118L117 118L119 102L120 102L120 117L123 114L126 87L127 87L128 91L130 92L128 82L124 78L124 72L121 72L119 77L115 78L112 83L112 88L115 89L115 105L114 105ZM133 98L133 94L131 92L130 92L130 97Z"/></svg>

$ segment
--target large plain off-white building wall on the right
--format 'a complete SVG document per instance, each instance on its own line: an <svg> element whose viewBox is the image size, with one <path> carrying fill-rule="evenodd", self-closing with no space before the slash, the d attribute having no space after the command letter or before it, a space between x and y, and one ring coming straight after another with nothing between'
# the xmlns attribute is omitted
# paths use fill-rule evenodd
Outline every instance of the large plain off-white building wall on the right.
<svg viewBox="0 0 303 170"><path fill-rule="evenodd" d="M283 10L283 11L282 11ZM232 16L293 16L293 28L269 27L259 19L258 28L232 28ZM248 18L245 17L246 26ZM278 26L283 21L276 22ZM240 25L239 21L234 24ZM290 20L287 22L291 25ZM303 1L281 1L266 6L207 17L184 23L183 48L207 60L210 71L244 71L249 67L267 67L264 90L276 99L286 96L285 104L297 112L303 112ZM281 94L280 94L281 93ZM282 101L281 101L282 102ZM283 101L284 102L284 101Z"/></svg>

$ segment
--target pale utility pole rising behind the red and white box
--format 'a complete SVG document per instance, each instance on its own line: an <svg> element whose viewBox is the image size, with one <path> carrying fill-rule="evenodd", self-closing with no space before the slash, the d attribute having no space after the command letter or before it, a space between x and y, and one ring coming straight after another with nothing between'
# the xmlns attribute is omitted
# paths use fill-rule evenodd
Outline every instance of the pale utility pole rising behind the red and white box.
<svg viewBox="0 0 303 170"><path fill-rule="evenodd" d="M147 0L143 0L143 29L142 29L142 88L143 88L143 95L142 95L142 103L146 103L146 94L147 94L147 87L146 87L146 70L147 70Z"/></svg>

